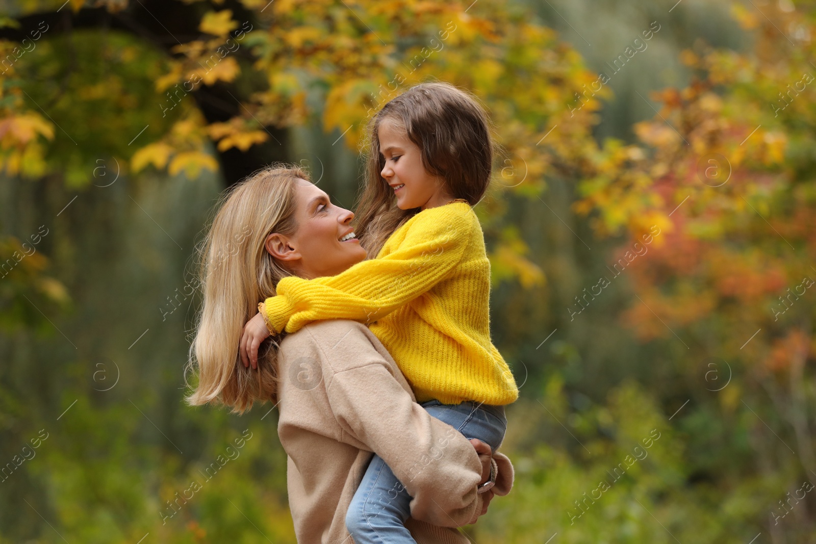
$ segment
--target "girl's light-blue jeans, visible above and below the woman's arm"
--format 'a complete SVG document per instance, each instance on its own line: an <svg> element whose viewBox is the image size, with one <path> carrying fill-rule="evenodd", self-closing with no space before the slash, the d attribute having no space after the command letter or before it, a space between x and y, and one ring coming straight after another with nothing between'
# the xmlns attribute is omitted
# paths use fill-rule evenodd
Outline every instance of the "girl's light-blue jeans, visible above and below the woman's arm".
<svg viewBox="0 0 816 544"><path fill-rule="evenodd" d="M503 406L482 405L465 401L443 405L438 400L422 403L434 418L446 422L465 438L478 438L499 449L507 430ZM346 529L355 544L415 543L405 522L410 516L411 497L388 465L375 455L354 493L346 514Z"/></svg>

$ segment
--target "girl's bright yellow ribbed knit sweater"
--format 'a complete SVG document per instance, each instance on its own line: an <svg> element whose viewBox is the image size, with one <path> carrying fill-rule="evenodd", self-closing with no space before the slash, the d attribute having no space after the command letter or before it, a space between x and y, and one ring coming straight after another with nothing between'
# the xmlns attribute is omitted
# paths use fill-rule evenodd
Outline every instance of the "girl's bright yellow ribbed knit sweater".
<svg viewBox="0 0 816 544"><path fill-rule="evenodd" d="M370 323L419 402L507 405L518 388L490 341L489 303L479 219L454 201L406 221L376 259L337 276L283 278L264 310L276 331L290 333L317 320Z"/></svg>

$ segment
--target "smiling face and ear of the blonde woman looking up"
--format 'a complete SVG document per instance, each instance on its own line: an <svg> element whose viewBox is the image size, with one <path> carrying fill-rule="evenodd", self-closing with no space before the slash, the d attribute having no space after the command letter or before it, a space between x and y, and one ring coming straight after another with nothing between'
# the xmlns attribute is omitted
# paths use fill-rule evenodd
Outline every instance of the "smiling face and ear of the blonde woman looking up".
<svg viewBox="0 0 816 544"><path fill-rule="evenodd" d="M290 236L270 234L265 244L269 254L306 279L335 276L366 259L349 226L351 211L333 205L326 192L305 179L298 180L295 201L298 228Z"/></svg>

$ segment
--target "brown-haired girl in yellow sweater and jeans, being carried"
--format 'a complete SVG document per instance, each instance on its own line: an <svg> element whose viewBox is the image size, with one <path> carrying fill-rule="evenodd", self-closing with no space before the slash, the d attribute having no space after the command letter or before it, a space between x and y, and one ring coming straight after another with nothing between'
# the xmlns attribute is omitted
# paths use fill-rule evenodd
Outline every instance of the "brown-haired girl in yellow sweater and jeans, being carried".
<svg viewBox="0 0 816 544"><path fill-rule="evenodd" d="M424 83L385 104L368 132L357 230L377 258L336 276L282 279L246 325L244 365L255 368L269 334L325 319L370 323L430 414L498 449L503 406L518 390L490 341L490 262L471 208L490 182L486 114L454 86ZM339 241L356 237L348 228ZM415 542L404 526L411 497L403 484L372 459L346 516L354 542Z"/></svg>

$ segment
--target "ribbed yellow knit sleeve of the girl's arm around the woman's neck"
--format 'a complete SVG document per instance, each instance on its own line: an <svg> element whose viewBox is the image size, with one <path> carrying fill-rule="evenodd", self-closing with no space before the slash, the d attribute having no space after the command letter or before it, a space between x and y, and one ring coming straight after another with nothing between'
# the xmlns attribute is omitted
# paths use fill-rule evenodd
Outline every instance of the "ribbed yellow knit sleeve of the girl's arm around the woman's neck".
<svg viewBox="0 0 816 544"><path fill-rule="evenodd" d="M268 323L293 333L310 321L352 319L367 323L426 293L461 261L472 236L462 206L439 206L415 216L396 250L355 264L337 276L286 277L266 299Z"/></svg>

